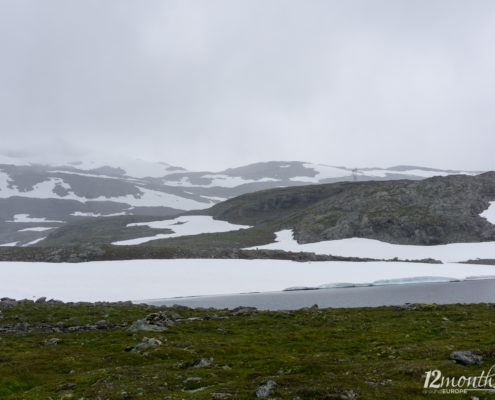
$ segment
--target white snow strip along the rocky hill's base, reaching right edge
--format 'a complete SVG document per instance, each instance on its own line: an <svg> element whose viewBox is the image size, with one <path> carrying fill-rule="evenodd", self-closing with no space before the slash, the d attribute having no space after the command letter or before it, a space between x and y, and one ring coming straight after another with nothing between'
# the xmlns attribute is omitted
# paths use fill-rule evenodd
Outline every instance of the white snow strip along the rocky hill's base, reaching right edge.
<svg viewBox="0 0 495 400"><path fill-rule="evenodd" d="M316 254L331 254L342 257L377 259L420 260L434 258L443 262L459 262L477 258L495 258L495 242L451 243L438 246L413 246L380 242L379 240L352 238L325 240L316 243L299 244L292 236L292 230L276 233L276 242L258 249L307 251Z"/></svg>

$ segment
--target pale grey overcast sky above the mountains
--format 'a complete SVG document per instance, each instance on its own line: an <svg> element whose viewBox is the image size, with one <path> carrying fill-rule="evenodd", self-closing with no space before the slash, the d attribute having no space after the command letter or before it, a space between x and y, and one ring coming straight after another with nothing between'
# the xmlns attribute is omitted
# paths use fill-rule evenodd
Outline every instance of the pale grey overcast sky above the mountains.
<svg viewBox="0 0 495 400"><path fill-rule="evenodd" d="M493 0L0 0L0 152L495 169Z"/></svg>

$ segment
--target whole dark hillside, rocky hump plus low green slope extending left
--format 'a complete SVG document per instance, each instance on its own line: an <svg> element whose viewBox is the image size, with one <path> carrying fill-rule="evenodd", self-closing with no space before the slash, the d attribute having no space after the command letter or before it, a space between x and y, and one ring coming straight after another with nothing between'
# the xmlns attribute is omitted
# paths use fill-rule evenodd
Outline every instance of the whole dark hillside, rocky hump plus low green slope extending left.
<svg viewBox="0 0 495 400"><path fill-rule="evenodd" d="M110 244L124 239L117 244L234 249L271 243L274 233L283 229L292 229L299 243L353 237L414 245L483 242L495 240L495 225L480 216L494 200L494 172L307 185L245 194L175 219L135 216L70 223L39 244ZM216 220L232 226L211 233L200 226L168 237L170 230L194 226L195 218L205 218L201 215L213 217L207 224Z"/></svg>

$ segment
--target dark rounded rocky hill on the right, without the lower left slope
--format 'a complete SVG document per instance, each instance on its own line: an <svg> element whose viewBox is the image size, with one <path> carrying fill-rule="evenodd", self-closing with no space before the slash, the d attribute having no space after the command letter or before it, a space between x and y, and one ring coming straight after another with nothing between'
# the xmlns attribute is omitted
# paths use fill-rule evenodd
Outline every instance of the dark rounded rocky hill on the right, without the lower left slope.
<svg viewBox="0 0 495 400"><path fill-rule="evenodd" d="M495 240L495 226L479 215L493 200L495 173L488 172L273 189L206 213L231 223L294 229L300 243L362 237L433 245Z"/></svg>

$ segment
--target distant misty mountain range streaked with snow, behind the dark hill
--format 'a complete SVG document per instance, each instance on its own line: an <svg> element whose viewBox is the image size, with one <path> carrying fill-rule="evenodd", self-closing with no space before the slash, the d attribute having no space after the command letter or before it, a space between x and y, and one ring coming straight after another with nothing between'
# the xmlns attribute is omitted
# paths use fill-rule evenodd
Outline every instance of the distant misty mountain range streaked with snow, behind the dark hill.
<svg viewBox="0 0 495 400"><path fill-rule="evenodd" d="M411 166L353 169L300 161L208 172L125 158L46 163L2 156L0 245L35 244L51 230L82 218L169 216L274 187L478 173Z"/></svg>

